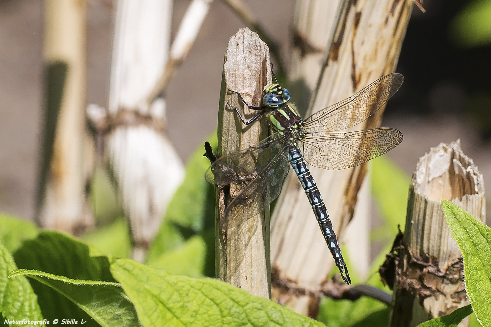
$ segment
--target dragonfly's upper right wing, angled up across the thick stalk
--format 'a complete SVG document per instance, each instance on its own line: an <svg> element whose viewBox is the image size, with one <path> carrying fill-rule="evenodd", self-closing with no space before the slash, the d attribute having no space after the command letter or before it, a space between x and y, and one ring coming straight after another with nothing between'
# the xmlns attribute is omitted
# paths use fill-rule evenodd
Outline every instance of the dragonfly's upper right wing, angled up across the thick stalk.
<svg viewBox="0 0 491 327"><path fill-rule="evenodd" d="M305 119L307 132L343 130L367 120L387 102L404 82L398 73L382 76L348 99L319 110Z"/></svg>

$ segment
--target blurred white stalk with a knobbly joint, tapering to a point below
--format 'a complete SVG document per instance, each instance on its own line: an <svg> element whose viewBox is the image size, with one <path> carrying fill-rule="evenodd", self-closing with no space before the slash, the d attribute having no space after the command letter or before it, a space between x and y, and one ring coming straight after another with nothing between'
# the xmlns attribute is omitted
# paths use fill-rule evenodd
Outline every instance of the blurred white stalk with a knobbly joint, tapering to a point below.
<svg viewBox="0 0 491 327"><path fill-rule="evenodd" d="M165 100L146 101L167 62L171 17L171 0L117 1L108 115L88 112L108 123L105 156L130 222L132 257L139 262L184 178L167 137Z"/></svg>

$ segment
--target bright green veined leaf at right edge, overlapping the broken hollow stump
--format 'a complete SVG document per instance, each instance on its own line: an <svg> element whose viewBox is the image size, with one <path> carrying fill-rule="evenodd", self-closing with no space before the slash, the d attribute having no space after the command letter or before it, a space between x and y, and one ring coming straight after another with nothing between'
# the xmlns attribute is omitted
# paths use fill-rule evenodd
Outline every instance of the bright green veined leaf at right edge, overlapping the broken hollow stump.
<svg viewBox="0 0 491 327"><path fill-rule="evenodd" d="M441 201L447 224L464 254L465 288L477 320L491 326L491 228L464 209Z"/></svg>

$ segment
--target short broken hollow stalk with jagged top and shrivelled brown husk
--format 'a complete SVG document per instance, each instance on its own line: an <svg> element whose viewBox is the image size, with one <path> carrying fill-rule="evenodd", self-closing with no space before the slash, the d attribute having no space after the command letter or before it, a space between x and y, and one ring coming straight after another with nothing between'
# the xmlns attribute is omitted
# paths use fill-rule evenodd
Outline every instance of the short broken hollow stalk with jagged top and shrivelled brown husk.
<svg viewBox="0 0 491 327"><path fill-rule="evenodd" d="M469 304L462 253L443 217L441 200L486 222L484 178L461 150L460 140L431 148L412 175L391 327L417 326ZM469 323L467 317L458 326Z"/></svg>

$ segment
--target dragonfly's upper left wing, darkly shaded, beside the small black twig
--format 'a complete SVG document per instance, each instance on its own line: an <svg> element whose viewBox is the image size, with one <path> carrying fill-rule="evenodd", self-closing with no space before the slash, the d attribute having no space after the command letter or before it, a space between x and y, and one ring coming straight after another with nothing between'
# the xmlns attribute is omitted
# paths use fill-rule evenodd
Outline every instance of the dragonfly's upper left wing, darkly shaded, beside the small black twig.
<svg viewBox="0 0 491 327"><path fill-rule="evenodd" d="M277 148L273 144L282 138L274 133L257 146L219 157L206 171L205 179L218 187L253 179L268 165Z"/></svg>

